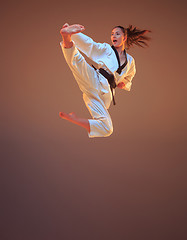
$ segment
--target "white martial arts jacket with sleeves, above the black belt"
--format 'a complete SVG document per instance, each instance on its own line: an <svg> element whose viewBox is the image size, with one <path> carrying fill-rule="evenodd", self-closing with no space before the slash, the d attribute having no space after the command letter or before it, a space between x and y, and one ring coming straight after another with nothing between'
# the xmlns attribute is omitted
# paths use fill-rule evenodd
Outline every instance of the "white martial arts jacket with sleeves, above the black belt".
<svg viewBox="0 0 187 240"><path fill-rule="evenodd" d="M117 51L114 51L108 43L96 43L83 33L72 35L72 40L81 52L98 64L99 68L104 68L109 73L113 73L116 84L124 82L124 89L130 91L132 79L136 73L135 61L131 55L126 54L127 64L118 73L117 70L120 67L119 56Z"/></svg>

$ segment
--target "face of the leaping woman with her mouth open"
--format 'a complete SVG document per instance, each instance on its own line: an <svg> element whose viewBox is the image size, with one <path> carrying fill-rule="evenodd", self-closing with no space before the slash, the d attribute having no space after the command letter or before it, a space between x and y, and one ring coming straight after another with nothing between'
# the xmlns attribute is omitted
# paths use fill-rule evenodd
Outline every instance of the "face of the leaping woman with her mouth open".
<svg viewBox="0 0 187 240"><path fill-rule="evenodd" d="M114 47L118 48L125 44L126 37L121 28L114 28L111 33L111 41Z"/></svg>

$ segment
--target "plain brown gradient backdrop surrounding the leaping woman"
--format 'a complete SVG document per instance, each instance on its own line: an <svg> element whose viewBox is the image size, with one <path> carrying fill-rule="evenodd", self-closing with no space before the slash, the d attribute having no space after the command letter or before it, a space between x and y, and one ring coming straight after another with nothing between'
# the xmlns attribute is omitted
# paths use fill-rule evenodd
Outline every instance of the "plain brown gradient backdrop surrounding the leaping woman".
<svg viewBox="0 0 187 240"><path fill-rule="evenodd" d="M1 240L185 239L185 1L1 3ZM129 51L137 74L117 91L114 133L89 139L59 111L89 117L59 30L152 30Z"/></svg>

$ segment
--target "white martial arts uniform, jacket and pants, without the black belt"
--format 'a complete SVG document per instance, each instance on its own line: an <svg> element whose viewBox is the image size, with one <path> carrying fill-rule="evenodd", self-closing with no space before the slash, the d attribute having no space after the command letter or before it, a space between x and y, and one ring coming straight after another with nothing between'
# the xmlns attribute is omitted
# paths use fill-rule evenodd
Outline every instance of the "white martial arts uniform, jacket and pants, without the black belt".
<svg viewBox="0 0 187 240"><path fill-rule="evenodd" d="M113 125L108 108L112 101L110 85L105 77L95 71L81 55L79 50L87 57L115 76L116 84L125 83L124 89L130 91L132 78L135 75L135 62L132 56L127 54L127 65L118 74L118 60L114 50L108 43L96 43L90 37L78 33L72 35L73 47L61 48L80 90L83 93L84 102L92 116L88 119L90 124L89 137L106 137L112 134Z"/></svg>

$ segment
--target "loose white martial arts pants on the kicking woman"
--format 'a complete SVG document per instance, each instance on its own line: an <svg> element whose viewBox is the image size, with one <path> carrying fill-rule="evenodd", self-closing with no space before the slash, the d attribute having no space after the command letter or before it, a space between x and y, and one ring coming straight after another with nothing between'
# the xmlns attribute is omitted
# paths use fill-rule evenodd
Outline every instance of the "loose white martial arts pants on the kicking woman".
<svg viewBox="0 0 187 240"><path fill-rule="evenodd" d="M107 109L112 101L112 94L107 79L95 71L80 54L73 43L72 48L62 51L80 90L83 99L93 119L90 124L89 137L107 137L112 134L112 120Z"/></svg>

